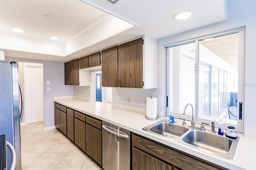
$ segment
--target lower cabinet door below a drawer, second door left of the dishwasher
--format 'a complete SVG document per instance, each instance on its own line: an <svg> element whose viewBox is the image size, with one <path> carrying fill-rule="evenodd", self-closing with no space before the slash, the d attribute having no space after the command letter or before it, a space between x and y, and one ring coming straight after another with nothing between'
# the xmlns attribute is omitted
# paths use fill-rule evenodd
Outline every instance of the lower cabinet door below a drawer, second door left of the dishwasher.
<svg viewBox="0 0 256 170"><path fill-rule="evenodd" d="M77 144L84 152L86 152L85 148L85 123L80 121L79 119L74 118L74 132L75 132L75 144Z"/></svg>

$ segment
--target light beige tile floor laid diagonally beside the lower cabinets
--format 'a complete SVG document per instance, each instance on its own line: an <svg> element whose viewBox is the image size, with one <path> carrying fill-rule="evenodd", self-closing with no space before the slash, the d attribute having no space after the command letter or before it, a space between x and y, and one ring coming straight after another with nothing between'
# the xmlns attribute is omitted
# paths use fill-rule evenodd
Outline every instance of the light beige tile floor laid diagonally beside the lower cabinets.
<svg viewBox="0 0 256 170"><path fill-rule="evenodd" d="M20 127L22 170L102 170L56 129L44 131L44 123Z"/></svg>

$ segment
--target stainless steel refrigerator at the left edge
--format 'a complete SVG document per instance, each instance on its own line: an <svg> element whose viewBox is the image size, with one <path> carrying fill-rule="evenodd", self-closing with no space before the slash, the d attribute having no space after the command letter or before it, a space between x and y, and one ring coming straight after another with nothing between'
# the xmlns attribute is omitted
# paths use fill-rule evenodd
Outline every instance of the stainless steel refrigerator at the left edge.
<svg viewBox="0 0 256 170"><path fill-rule="evenodd" d="M16 152L16 170L21 170L20 111L18 63L0 61L0 135L12 144ZM7 169L10 170L12 154L7 149Z"/></svg>

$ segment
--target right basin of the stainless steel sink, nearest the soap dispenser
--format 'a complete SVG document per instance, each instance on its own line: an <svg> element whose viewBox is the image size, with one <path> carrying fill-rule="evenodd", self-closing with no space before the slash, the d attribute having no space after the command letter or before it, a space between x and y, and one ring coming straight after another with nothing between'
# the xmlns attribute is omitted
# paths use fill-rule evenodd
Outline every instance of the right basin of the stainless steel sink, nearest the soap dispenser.
<svg viewBox="0 0 256 170"><path fill-rule="evenodd" d="M196 148L210 151L224 158L234 158L238 138L231 139L200 130L192 130L182 140Z"/></svg>

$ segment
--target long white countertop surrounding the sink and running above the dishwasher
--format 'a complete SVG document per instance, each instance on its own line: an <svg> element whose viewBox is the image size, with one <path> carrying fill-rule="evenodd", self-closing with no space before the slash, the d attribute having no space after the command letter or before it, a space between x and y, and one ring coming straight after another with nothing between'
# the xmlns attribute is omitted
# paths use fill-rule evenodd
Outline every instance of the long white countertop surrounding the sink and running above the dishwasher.
<svg viewBox="0 0 256 170"><path fill-rule="evenodd" d="M65 97L55 97L54 101L65 105L76 111L80 111L92 117L101 119L118 127L130 130L131 132L140 134L162 144L168 145L172 148L176 148L188 154L194 155L198 158L202 158L214 164L223 166L228 169L256 169L256 140L245 138L244 136L238 134L240 137L238 145L236 148L236 155L234 160L225 159L214 154L204 152L187 144L161 137L150 132L142 130L142 128L152 125L160 121L150 121L145 119L145 115L138 114L130 111L125 111L122 109L113 108L109 103L101 102L88 102L82 101L74 98ZM177 123L180 124L180 123ZM181 125L181 124L180 124ZM200 125L197 125L200 127Z"/></svg>

